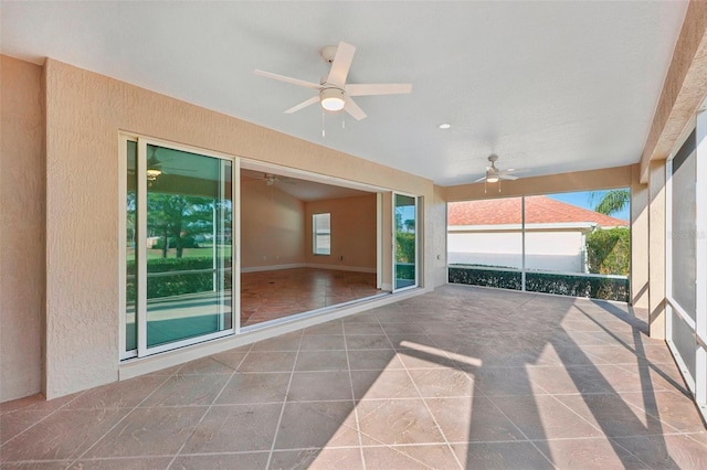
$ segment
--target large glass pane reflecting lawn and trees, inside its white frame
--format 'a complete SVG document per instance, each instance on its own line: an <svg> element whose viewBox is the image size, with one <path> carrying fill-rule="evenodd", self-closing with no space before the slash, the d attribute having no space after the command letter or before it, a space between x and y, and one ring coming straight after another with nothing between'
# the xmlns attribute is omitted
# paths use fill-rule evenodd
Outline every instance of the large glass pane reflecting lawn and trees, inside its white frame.
<svg viewBox="0 0 707 470"><path fill-rule="evenodd" d="M148 145L147 163L147 346L231 329L231 162Z"/></svg>

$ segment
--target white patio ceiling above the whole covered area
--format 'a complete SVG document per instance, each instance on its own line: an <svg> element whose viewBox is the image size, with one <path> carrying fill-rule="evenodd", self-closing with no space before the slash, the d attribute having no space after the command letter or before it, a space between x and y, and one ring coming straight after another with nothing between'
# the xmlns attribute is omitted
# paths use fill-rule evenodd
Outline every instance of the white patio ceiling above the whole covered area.
<svg viewBox="0 0 707 470"><path fill-rule="evenodd" d="M442 185L635 163L686 1L7 2L2 53L50 56ZM312 106L318 51L357 46L349 83L412 83L357 98L356 121ZM449 122L449 130L437 125Z"/></svg>

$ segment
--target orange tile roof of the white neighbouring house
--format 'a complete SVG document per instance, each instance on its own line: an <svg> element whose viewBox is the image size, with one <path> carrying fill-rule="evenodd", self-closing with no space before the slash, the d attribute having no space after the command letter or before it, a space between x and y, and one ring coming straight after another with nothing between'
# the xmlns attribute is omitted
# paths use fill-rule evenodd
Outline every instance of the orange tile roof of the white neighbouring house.
<svg viewBox="0 0 707 470"><path fill-rule="evenodd" d="M520 197L451 202L449 225L520 224ZM545 195L526 196L526 224L592 222L602 227L627 226L626 221L578 207Z"/></svg>

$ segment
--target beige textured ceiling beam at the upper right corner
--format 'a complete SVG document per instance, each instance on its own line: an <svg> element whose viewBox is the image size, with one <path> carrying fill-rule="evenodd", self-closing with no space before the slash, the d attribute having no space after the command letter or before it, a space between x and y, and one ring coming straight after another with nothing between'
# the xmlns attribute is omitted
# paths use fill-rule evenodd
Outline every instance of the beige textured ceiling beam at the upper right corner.
<svg viewBox="0 0 707 470"><path fill-rule="evenodd" d="M690 1L663 83L651 131L641 156L641 182L648 165L665 160L707 96L707 2Z"/></svg>

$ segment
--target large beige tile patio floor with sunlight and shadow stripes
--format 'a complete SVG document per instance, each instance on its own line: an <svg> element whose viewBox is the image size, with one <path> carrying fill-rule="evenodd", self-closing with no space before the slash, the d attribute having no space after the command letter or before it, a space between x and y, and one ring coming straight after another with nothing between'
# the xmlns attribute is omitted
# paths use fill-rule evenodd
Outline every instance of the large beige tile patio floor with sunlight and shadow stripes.
<svg viewBox="0 0 707 470"><path fill-rule="evenodd" d="M446 286L1 409L2 469L705 469L671 355L625 306Z"/></svg>

